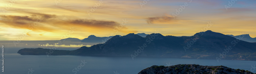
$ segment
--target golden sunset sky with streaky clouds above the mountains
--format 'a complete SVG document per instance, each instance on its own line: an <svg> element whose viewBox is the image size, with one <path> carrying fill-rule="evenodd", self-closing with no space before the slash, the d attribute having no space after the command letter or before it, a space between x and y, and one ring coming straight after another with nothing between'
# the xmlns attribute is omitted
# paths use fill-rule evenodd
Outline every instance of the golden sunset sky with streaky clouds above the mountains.
<svg viewBox="0 0 256 74"><path fill-rule="evenodd" d="M255 38L255 12L256 0L1 0L0 40L207 30Z"/></svg>

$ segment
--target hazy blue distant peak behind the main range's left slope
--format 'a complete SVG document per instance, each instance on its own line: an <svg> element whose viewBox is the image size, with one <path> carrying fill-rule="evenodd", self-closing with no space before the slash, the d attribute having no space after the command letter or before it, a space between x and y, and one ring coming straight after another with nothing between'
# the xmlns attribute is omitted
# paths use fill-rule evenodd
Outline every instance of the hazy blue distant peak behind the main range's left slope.
<svg viewBox="0 0 256 74"><path fill-rule="evenodd" d="M119 35L121 36L121 35ZM112 38L113 36L109 36L109 37L96 37L95 35L90 35L88 36L88 38L83 39L81 42L83 43L105 43L106 41L108 41L110 38Z"/></svg>

